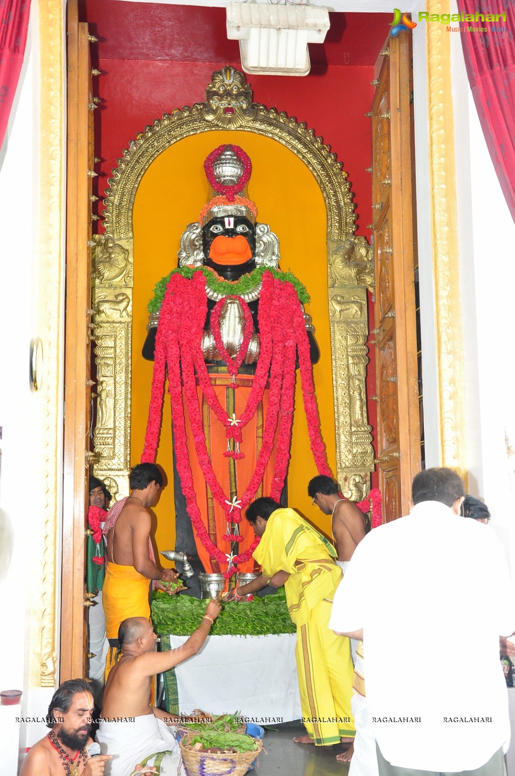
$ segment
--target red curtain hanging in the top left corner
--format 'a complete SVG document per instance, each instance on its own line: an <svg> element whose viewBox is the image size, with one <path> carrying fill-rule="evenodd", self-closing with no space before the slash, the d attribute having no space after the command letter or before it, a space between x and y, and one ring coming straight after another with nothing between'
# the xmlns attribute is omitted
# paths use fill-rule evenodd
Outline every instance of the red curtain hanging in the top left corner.
<svg viewBox="0 0 515 776"><path fill-rule="evenodd" d="M0 147L22 69L30 0L0 0Z"/></svg>

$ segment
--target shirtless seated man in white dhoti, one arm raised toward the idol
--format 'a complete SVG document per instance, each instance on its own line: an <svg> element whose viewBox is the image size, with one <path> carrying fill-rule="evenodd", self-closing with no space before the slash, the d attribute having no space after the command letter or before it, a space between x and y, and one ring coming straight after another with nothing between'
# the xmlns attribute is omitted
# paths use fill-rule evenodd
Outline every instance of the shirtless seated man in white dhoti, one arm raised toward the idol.
<svg viewBox="0 0 515 776"><path fill-rule="evenodd" d="M112 754L111 776L127 776L140 762L160 766L161 776L184 774L178 743L165 724L170 718L150 706L150 682L154 674L162 674L199 652L220 608L219 601L209 601L192 636L168 652L155 651L157 637L147 619L130 617L120 625L122 654L105 685L97 733L102 752Z"/></svg>

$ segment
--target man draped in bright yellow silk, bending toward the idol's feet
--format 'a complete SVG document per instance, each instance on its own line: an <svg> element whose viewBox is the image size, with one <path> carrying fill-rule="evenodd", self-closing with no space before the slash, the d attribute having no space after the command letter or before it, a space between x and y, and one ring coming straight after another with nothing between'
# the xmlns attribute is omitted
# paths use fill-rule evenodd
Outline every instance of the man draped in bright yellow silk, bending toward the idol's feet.
<svg viewBox="0 0 515 776"><path fill-rule="evenodd" d="M302 722L308 736L299 743L330 746L354 737L351 712L354 667L349 639L329 629L334 592L341 570L336 551L292 509L271 498L258 498L247 509L247 520L261 542L254 558L261 576L237 587L230 598L258 591L269 581L285 585L286 601L297 626L296 661Z"/></svg>

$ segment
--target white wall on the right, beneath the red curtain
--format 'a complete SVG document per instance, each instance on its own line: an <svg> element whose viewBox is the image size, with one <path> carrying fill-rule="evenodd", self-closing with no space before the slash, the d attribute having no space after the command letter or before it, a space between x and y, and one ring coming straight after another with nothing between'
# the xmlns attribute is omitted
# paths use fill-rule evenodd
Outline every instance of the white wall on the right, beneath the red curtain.
<svg viewBox="0 0 515 776"><path fill-rule="evenodd" d="M506 438L515 447L515 362L506 290L515 283L515 224L486 147L459 35L451 36L451 47L468 488L488 504L491 524L509 549L515 547L515 451L507 452Z"/></svg>

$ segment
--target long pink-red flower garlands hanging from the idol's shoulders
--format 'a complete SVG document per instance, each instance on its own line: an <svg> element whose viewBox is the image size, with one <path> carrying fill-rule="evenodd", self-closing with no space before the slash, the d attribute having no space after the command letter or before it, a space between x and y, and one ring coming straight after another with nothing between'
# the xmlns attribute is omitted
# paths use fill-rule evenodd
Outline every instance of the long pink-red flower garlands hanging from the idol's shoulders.
<svg viewBox="0 0 515 776"><path fill-rule="evenodd" d="M217 308L218 313L222 305ZM249 311L250 312L250 311ZM185 424L183 397L188 409L188 418L192 428L195 453L202 468L213 497L223 508L226 515L227 530L224 539L227 542L240 542L237 525L241 521L242 511L254 499L261 484L264 471L274 447L275 435L278 429L277 454L274 474L271 483L271 497L278 501L285 483L289 463L289 451L292 434L292 414L295 399L296 355L299 357L300 376L309 438L316 468L320 474L330 476L327 465L325 446L320 434L320 418L316 406L313 386L313 373L309 358L309 340L302 317L296 291L289 282L275 279L271 272L265 272L262 277L262 290L258 308L258 323L261 337L261 352L258 367L254 375L253 386L247 405L240 418L227 417L226 410L219 402L213 385L209 379L206 364L202 358L200 342L202 330L206 321L206 279L202 272L195 272L191 280L181 275L171 275L161 306L160 322L157 327L156 345L154 351L154 376L152 379L152 394L150 399L147 434L143 449L142 461L154 461L159 433L161 431L161 414L164 397L165 373L168 365L168 392L171 398L172 422L178 474L181 479L181 489L185 496L186 509L199 536L202 545L210 556L226 563L226 577L230 577L237 569L238 563L244 563L251 558L259 537L251 546L237 556L223 553L209 537L202 514L196 501L192 469L188 457L188 442ZM213 315L213 313L212 313ZM246 316L244 333L245 341L250 339L251 331L248 316ZM213 330L216 331L216 316ZM238 364L243 358L234 359L233 372L237 373ZM202 393L209 407L220 423L226 428L226 437L235 442L241 441L241 431L254 417L259 402L262 400L264 388L270 375L270 393L268 412L264 421L264 435L261 450L251 481L240 499L230 501L220 486L213 464L209 458L206 437L202 428L202 416L199 398L196 392L196 379L199 380ZM233 452L233 451L231 451ZM233 457L241 457L237 452ZM372 496L372 494L371 494ZM364 505L367 509L363 509ZM368 511L368 501L359 504L363 511ZM235 528L231 529L230 525Z"/></svg>

